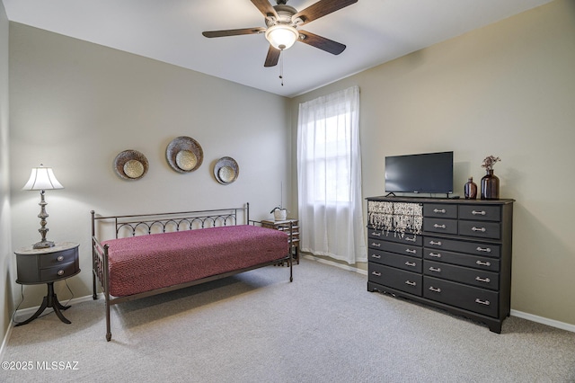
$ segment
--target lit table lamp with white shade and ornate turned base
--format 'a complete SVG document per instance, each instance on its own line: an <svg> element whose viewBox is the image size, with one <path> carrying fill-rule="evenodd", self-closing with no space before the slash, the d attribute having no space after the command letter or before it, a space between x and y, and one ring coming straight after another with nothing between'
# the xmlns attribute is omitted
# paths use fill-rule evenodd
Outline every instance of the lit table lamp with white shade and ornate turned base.
<svg viewBox="0 0 575 383"><path fill-rule="evenodd" d="M48 233L46 218L49 216L46 213L46 205L48 205L48 203L44 200L45 191L52 189L64 189L64 186L57 182L51 167L44 167L44 165L41 164L40 167L32 168L30 179L22 188L24 191L40 191L40 214L38 215L38 218L40 218L40 228L38 231L42 235L42 239L40 242L32 245L35 249L45 249L54 245L54 242L46 240L46 233Z"/></svg>

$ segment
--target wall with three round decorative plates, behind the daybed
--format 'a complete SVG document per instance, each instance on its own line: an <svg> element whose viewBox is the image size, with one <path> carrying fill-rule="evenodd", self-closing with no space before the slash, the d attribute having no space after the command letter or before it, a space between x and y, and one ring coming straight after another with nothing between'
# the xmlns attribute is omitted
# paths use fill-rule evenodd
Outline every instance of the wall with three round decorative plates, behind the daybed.
<svg viewBox="0 0 575 383"><path fill-rule="evenodd" d="M65 189L46 192L48 239L80 243L82 272L68 281L76 298L91 294L91 209L155 213L247 201L251 218L270 218L280 185L284 198L291 188L284 97L14 22L10 66L13 248L40 239L39 192L21 189L32 166L52 166ZM176 173L165 160L178 136L203 148L193 173ZM125 149L146 155L141 180L113 172ZM222 156L238 162L235 183L221 185L212 175ZM63 283L56 288L58 298L70 297ZM45 289L26 286L22 307L38 306Z"/></svg>

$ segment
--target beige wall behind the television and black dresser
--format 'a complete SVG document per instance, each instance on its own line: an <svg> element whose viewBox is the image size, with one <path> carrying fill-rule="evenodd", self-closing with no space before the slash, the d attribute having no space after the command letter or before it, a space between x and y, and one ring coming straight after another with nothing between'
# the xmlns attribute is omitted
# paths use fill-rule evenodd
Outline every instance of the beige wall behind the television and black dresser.
<svg viewBox="0 0 575 383"><path fill-rule="evenodd" d="M574 68L575 1L557 0L293 99L292 139L299 102L359 85L364 197L384 194L385 156L453 150L460 195L500 156L511 306L575 325Z"/></svg>

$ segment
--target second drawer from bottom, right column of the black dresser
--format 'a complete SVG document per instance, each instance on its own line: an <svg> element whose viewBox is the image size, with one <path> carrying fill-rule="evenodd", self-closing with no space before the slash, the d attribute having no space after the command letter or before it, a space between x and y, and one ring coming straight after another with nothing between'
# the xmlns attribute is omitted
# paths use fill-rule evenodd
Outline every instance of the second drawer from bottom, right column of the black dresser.
<svg viewBox="0 0 575 383"><path fill-rule="evenodd" d="M500 277L496 272L482 272L455 264L433 261L423 262L423 273L433 277L456 281L485 289L499 289Z"/></svg>

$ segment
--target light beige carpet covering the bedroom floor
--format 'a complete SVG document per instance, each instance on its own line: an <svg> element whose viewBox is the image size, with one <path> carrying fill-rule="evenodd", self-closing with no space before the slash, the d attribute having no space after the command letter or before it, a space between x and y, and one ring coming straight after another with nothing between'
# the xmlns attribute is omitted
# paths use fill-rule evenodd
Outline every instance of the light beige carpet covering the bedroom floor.
<svg viewBox="0 0 575 383"><path fill-rule="evenodd" d="M575 382L574 333L510 317L493 334L367 292L355 272L309 260L294 272L293 283L270 266L120 304L110 343L102 299L75 304L72 325L51 313L13 328L4 361L32 369L0 381Z"/></svg>

